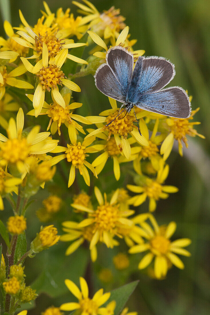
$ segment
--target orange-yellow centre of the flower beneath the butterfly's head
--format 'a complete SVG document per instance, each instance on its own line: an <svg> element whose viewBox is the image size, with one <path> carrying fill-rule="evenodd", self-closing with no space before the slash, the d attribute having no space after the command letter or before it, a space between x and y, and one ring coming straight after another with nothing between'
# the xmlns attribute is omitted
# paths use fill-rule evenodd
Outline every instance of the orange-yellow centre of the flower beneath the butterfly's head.
<svg viewBox="0 0 210 315"><path fill-rule="evenodd" d="M106 124L110 123L117 115L118 111L110 114L106 118ZM128 114L125 116L125 113L122 112L109 126L105 126L104 129L109 132L109 137L110 135L120 134L126 139L128 134L133 130L133 127L133 116Z"/></svg>

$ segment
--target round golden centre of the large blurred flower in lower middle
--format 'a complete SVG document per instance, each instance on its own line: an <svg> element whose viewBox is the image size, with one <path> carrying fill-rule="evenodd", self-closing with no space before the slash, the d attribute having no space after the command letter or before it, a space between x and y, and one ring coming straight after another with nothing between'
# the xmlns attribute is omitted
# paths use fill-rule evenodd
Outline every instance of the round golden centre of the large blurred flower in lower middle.
<svg viewBox="0 0 210 315"><path fill-rule="evenodd" d="M98 206L94 214L90 216L95 217L96 230L109 231L114 233L117 221L119 219L119 204L111 205L110 203L105 203Z"/></svg>

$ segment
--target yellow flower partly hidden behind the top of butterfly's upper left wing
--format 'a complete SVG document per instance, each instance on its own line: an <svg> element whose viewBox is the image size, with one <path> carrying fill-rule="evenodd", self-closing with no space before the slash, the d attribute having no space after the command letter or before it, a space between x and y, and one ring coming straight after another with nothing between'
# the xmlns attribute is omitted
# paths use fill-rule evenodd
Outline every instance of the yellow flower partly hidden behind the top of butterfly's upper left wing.
<svg viewBox="0 0 210 315"><path fill-rule="evenodd" d="M108 51L108 47L106 45L106 43L102 40L102 38L97 35L95 32L93 31L87 31L88 34L90 35L90 37L92 38L92 40L98 45L100 46L100 49L105 49L105 51ZM137 60L137 58L139 56L142 56L145 53L145 50L135 50L133 51L132 49L132 45L134 45L137 41L136 40L132 40L129 41L128 40L128 32L129 32L129 27L126 26L121 33L119 34L117 31L114 32L114 37L111 38L111 44L112 46L122 46L125 47L126 49L128 49L131 54L134 55L135 60ZM117 38L117 39L115 39ZM93 54L94 56L98 57L98 58L106 58L106 53L105 52L101 52L101 51L96 51Z"/></svg>

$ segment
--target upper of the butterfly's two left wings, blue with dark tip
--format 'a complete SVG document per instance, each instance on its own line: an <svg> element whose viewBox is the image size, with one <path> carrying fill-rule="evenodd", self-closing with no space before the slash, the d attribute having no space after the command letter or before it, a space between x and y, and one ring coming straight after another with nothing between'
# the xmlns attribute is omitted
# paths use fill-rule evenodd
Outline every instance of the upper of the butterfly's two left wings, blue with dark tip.
<svg viewBox="0 0 210 315"><path fill-rule="evenodd" d="M115 46L108 50L106 60L126 95L131 84L133 55L123 47Z"/></svg>

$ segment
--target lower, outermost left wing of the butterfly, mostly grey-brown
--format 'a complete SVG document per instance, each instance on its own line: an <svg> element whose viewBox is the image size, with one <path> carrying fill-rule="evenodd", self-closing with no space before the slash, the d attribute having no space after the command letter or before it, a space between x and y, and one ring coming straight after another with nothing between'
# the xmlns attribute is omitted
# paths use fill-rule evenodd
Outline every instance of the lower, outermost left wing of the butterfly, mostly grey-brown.
<svg viewBox="0 0 210 315"><path fill-rule="evenodd" d="M95 83L96 87L103 94L114 98L121 103L125 102L123 88L107 64L103 64L97 69L95 74Z"/></svg>

